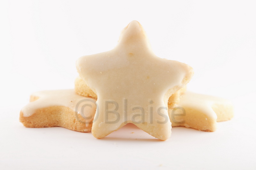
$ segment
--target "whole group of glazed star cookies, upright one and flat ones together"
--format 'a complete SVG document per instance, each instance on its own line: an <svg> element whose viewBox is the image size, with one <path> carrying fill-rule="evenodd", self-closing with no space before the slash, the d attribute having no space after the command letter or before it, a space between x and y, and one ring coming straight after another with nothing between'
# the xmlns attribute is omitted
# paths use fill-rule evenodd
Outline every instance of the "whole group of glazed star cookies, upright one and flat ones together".
<svg viewBox="0 0 256 170"><path fill-rule="evenodd" d="M228 100L186 91L193 75L187 64L157 57L137 21L124 28L116 48L80 57L75 89L31 95L20 112L26 127L61 126L106 137L133 123L161 140L171 128L215 131L233 117Z"/></svg>

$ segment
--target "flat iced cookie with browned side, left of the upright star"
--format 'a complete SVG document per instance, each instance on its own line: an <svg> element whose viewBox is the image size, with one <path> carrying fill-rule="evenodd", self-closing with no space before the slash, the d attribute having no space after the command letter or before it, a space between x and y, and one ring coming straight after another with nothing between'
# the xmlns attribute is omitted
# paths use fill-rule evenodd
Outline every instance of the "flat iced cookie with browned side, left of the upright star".
<svg viewBox="0 0 256 170"><path fill-rule="evenodd" d="M88 132L96 110L96 99L83 97L72 90L35 92L30 103L20 111L20 122L28 128L60 126Z"/></svg>

